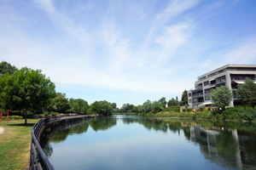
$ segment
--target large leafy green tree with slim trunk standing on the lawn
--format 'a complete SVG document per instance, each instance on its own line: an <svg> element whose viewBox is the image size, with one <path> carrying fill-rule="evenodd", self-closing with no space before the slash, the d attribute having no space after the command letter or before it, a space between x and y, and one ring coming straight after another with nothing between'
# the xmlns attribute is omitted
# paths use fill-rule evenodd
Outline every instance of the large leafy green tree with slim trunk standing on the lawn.
<svg viewBox="0 0 256 170"><path fill-rule="evenodd" d="M46 78L41 70L24 67L13 75L0 77L0 104L6 109L24 111L25 124L27 111L43 111L55 97L55 84Z"/></svg>

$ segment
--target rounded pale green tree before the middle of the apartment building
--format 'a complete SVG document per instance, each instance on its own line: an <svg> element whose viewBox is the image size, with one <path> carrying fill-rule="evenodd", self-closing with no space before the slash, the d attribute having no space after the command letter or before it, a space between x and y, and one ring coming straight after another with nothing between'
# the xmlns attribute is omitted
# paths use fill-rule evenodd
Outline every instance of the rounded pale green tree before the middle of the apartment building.
<svg viewBox="0 0 256 170"><path fill-rule="evenodd" d="M232 100L232 92L226 86L221 86L211 90L211 98L214 105L225 110L225 106Z"/></svg>

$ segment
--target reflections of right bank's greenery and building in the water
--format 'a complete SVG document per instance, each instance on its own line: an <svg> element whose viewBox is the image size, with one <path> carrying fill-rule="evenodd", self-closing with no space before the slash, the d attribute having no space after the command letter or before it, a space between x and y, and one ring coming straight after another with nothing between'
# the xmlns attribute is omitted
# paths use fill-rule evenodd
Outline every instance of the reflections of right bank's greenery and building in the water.
<svg viewBox="0 0 256 170"><path fill-rule="evenodd" d="M124 123L172 133L183 130L189 141L200 144L201 152L224 167L256 169L256 125L248 122L191 121L156 118L124 118Z"/></svg>

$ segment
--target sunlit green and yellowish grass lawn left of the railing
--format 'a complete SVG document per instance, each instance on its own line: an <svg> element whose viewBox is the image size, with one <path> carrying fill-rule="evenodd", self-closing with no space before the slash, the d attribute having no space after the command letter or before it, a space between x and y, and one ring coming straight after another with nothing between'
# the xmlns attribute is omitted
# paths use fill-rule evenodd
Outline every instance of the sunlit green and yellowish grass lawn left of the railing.
<svg viewBox="0 0 256 170"><path fill-rule="evenodd" d="M32 126L39 119L0 122L0 170L26 169L29 164Z"/></svg>

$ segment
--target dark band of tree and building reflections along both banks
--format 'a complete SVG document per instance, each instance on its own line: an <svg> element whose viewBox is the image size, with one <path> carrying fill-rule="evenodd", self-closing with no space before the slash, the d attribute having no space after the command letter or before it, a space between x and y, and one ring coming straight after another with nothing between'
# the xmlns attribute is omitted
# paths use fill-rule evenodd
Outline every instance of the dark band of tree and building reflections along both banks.
<svg viewBox="0 0 256 170"><path fill-rule="evenodd" d="M182 134L189 143L199 145L205 159L221 167L255 169L256 166L255 123L109 116L72 124L53 124L45 128L41 142L46 155L50 157L54 150L50 143L65 141L68 135L86 133L89 127L95 132L107 131L117 126L117 122L125 125L140 124L148 131Z"/></svg>

